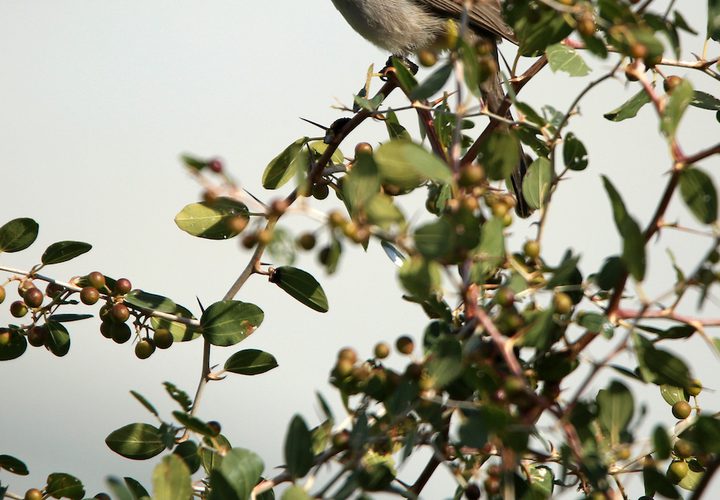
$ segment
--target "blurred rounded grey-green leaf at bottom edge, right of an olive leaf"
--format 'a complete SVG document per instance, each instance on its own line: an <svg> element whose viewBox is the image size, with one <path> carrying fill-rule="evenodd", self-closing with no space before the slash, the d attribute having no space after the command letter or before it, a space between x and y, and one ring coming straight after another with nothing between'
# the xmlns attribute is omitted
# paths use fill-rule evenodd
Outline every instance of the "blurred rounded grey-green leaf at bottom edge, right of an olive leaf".
<svg viewBox="0 0 720 500"><path fill-rule="evenodd" d="M209 500L247 500L260 479L262 460L243 448L233 448L210 472Z"/></svg>

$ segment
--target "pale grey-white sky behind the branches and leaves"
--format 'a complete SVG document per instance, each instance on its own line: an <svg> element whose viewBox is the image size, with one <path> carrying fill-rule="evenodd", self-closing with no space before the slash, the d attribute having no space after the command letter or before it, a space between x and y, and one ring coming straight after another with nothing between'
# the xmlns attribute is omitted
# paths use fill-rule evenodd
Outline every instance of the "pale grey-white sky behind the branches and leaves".
<svg viewBox="0 0 720 500"><path fill-rule="evenodd" d="M704 32L706 3L677 4ZM702 50L700 40L686 42L686 57ZM178 155L219 155L244 186L270 198L260 188L265 164L298 137L317 133L298 117L329 124L347 116L332 109L336 98L350 103L367 67L380 67L387 57L353 33L329 0L0 0L0 47L0 223L33 217L40 224L35 245L0 255L0 264L29 268L55 241L87 241L94 245L91 253L47 273L62 280L93 270L126 276L136 287L166 294L194 311L196 296L205 304L222 297L249 253L238 250L237 240L195 239L175 227L175 214L201 192L180 168ZM512 48L504 44L503 50ZM714 44L710 55L717 53ZM610 67L597 60L590 64L595 76ZM697 88L720 95L716 81L692 78ZM587 81L546 69L523 90L522 100L565 110ZM651 107L621 124L602 118L637 90L624 80L608 82L584 101L583 116L573 120L571 130L585 141L591 163L557 193L545 238L550 262L572 246L583 255L581 268L589 274L604 256L618 252L600 174L615 181L641 224L654 210L669 160ZM402 104L401 99L392 102ZM411 126L416 122L410 113L401 120ZM686 152L694 152L716 143L719 131L713 113L691 110L680 141ZM384 126L368 122L345 149L351 152L355 141L384 137ZM702 167L717 178L720 160L707 160ZM678 197L669 214L669 220L694 224ZM517 248L535 234L532 220L512 227L511 245ZM311 227L297 218L290 225ZM651 245L646 290L665 291L672 283L666 248L672 247L689 271L708 245L707 239L667 231ZM332 278L310 255L298 262L322 282L330 300L326 315L260 277L251 279L237 298L264 309L264 324L241 345L213 351L218 364L249 347L273 353L280 363L263 376L211 384L200 410L201 417L223 423L235 446L258 452L266 475L282 463L292 414L301 413L311 425L319 422L316 389L339 408L337 392L327 384L339 348L353 345L366 356L378 340L421 337L424 317L400 299L394 267L379 246L349 255ZM9 295L0 309L2 323L10 321L7 305L14 299ZM704 314L717 317L720 311L710 304ZM24 460L31 471L27 478L3 471L0 481L21 493L41 487L48 473L62 471L80 477L88 496L104 489L109 474L134 476L149 487L151 466L115 455L104 438L127 423L152 422L129 390L144 394L166 416L175 407L163 381L192 394L202 344L175 345L140 361L130 344L117 346L102 338L95 320L69 326L68 356L55 358L30 348L22 358L0 365L0 453ZM598 341L598 349L607 345ZM702 342L676 342L673 348L713 386L717 359ZM611 376L600 377L597 388ZM632 387L654 411L649 424L672 426L669 407L655 387ZM717 392L706 391L701 398L708 409L717 409L719 402ZM453 491L441 472L424 498L450 497Z"/></svg>

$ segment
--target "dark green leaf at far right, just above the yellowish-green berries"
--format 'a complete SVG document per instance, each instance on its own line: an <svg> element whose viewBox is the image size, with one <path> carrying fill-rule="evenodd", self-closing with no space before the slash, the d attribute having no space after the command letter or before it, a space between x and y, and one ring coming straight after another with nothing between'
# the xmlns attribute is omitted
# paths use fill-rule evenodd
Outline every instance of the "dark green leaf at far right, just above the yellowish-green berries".
<svg viewBox="0 0 720 500"><path fill-rule="evenodd" d="M687 365L673 354L656 349L652 342L633 333L633 346L638 359L640 375L646 382L688 387L691 382Z"/></svg>

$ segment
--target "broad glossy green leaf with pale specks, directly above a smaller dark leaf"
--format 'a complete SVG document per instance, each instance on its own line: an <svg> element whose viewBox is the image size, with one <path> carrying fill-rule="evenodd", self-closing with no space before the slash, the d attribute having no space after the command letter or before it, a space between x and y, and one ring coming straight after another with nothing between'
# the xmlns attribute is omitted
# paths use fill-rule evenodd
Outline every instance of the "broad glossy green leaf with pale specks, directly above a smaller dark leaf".
<svg viewBox="0 0 720 500"><path fill-rule="evenodd" d="M203 337L212 345L235 345L253 333L265 314L255 304L239 300L222 300L210 305L202 317Z"/></svg>

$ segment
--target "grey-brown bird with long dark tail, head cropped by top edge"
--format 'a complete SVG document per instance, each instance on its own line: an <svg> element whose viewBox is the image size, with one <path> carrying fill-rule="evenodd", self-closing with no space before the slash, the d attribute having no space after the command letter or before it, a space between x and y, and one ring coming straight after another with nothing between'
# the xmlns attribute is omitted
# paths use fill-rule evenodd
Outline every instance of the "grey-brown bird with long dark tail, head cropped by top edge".
<svg viewBox="0 0 720 500"><path fill-rule="evenodd" d="M463 0L332 0L347 23L372 44L393 55L406 57L423 50L434 50L447 37L448 20L463 14ZM475 42L490 44L498 60L497 43L517 43L513 29L502 17L500 0L475 0L467 11L468 27ZM504 100L500 73L481 84L480 91L490 112ZM506 113L511 118L509 112ZM522 179L528 157L520 151L520 161L510 183L515 192L516 213L528 217L532 210L522 195Z"/></svg>

